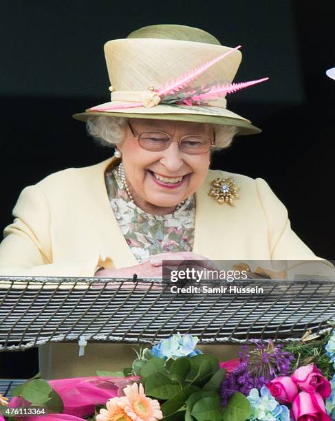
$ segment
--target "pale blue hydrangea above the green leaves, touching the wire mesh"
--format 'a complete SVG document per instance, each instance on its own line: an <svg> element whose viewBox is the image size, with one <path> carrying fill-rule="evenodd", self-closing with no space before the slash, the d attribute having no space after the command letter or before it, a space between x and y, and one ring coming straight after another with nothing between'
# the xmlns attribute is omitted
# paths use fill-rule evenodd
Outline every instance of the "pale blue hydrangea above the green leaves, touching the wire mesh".
<svg viewBox="0 0 335 421"><path fill-rule="evenodd" d="M154 345L151 352L158 358L180 358L182 356L195 356L202 354L195 345L199 339L197 336L181 335L180 333L172 335L168 339L163 339L157 345Z"/></svg>

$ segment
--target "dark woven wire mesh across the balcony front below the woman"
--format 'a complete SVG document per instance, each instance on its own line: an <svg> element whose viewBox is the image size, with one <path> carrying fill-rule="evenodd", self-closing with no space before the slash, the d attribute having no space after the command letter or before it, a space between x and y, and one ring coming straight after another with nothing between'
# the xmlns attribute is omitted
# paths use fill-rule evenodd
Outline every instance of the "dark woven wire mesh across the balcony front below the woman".
<svg viewBox="0 0 335 421"><path fill-rule="evenodd" d="M197 335L200 343L287 341L306 330L318 333L335 319L334 281L258 279L230 285L263 288L263 293L185 296L172 294L157 279L8 277L0 281L0 350L77 341L81 335L155 343L176 332Z"/></svg>

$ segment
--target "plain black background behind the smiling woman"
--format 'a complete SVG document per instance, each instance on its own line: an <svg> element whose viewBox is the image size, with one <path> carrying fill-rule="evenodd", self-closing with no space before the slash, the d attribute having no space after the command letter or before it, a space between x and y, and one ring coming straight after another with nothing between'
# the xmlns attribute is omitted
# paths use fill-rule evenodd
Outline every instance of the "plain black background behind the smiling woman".
<svg viewBox="0 0 335 421"><path fill-rule="evenodd" d="M236 138L213 168L265 178L292 227L334 259L335 2L2 1L0 6L0 228L23 187L111 155L72 114L109 100L102 45L155 23L202 28L242 45L236 80L270 80L232 94L228 108L263 129ZM66 360L65 360L66 363ZM29 377L36 349L0 353L0 377Z"/></svg>

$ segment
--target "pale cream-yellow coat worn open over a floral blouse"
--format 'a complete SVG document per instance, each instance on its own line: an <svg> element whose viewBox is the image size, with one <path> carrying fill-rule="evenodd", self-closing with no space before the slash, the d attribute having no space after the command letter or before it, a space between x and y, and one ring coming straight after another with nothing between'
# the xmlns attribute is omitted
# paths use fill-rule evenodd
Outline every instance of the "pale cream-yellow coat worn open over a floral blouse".
<svg viewBox="0 0 335 421"><path fill-rule="evenodd" d="M107 197L104 173L114 158L94 166L67 169L46 177L21 193L13 224L0 245L0 274L92 277L99 266L122 268L137 264L122 236ZM208 197L215 177L209 171L196 193L193 252L215 260L299 260L289 272L318 259L291 230L285 206L264 180L233 174L241 186L235 206ZM319 261L325 270L332 267ZM315 265L313 266L314 270ZM228 349L228 354L227 354ZM44 378L93 375L96 369L128 367L134 355L129 345L89 344L78 357L76 344L40 347ZM210 347L221 360L233 358L231 347ZM66 363L64 356L66 355Z"/></svg>

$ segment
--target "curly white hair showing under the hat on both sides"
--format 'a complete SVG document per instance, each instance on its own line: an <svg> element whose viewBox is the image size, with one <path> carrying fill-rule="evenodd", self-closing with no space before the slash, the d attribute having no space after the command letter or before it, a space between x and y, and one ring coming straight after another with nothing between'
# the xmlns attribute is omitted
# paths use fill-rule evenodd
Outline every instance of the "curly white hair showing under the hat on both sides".
<svg viewBox="0 0 335 421"><path fill-rule="evenodd" d="M87 132L98 144L115 147L125 139L127 118L113 116L89 117L86 122ZM215 130L215 148L228 148L237 133L236 126L213 125Z"/></svg>

